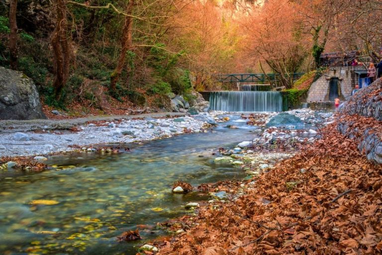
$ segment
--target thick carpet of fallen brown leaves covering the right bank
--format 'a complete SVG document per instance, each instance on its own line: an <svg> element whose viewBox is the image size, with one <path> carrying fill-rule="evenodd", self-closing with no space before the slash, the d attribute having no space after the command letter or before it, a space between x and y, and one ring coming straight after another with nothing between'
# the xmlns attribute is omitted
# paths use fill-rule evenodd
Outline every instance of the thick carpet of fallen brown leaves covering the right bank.
<svg viewBox="0 0 382 255"><path fill-rule="evenodd" d="M331 124L246 195L202 207L198 225L159 254L381 254L381 173Z"/></svg>

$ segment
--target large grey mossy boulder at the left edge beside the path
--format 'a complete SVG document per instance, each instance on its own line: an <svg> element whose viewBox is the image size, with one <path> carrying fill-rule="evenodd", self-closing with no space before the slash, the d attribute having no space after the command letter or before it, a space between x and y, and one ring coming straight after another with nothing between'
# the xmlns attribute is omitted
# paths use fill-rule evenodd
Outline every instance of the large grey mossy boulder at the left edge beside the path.
<svg viewBox="0 0 382 255"><path fill-rule="evenodd" d="M3 67L0 67L0 119L46 119L32 79Z"/></svg>

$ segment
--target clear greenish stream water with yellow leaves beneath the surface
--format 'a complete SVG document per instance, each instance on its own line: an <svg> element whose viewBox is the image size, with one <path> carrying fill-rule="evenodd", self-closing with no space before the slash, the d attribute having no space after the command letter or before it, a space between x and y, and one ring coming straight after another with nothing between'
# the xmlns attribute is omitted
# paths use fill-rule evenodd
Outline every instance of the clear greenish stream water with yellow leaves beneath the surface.
<svg viewBox="0 0 382 255"><path fill-rule="evenodd" d="M48 161L69 168L0 172L0 254L135 254L135 247L164 233L143 227L141 241L118 243L116 236L180 216L186 203L207 199L172 194L174 181L197 185L244 177L240 168L213 162L219 147L253 137L252 127L231 118L212 132L128 144L131 152L74 153ZM59 203L30 205L35 199Z"/></svg>

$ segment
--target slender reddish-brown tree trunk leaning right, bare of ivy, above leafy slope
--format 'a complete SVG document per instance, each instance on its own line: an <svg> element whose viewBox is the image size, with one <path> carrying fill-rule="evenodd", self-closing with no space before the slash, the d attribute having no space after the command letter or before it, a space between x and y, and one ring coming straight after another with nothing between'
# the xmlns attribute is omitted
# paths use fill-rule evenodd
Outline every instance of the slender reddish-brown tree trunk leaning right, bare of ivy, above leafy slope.
<svg viewBox="0 0 382 255"><path fill-rule="evenodd" d="M126 13L131 15L133 13L134 0L130 0L127 5ZM119 80L119 76L122 73L122 68L125 64L126 52L133 46L132 42L132 27L133 19L131 16L125 16L125 22L123 25L122 38L121 38L121 53L119 55L117 67L110 76L110 90L115 92L115 86Z"/></svg>

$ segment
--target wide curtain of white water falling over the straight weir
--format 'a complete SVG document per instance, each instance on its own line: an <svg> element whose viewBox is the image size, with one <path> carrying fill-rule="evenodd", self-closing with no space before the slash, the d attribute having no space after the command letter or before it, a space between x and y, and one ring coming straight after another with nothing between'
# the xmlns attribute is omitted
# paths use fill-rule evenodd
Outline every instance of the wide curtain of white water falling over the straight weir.
<svg viewBox="0 0 382 255"><path fill-rule="evenodd" d="M219 91L209 96L211 110L227 112L281 112L283 98L276 91Z"/></svg>

